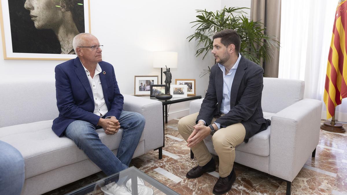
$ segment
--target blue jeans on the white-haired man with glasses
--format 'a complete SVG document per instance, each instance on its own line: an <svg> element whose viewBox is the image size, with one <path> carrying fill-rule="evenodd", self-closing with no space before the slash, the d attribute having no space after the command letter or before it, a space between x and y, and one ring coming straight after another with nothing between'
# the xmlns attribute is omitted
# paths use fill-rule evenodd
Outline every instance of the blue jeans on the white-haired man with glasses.
<svg viewBox="0 0 347 195"><path fill-rule="evenodd" d="M123 132L117 156L101 142L95 126L89 122L76 120L65 131L65 136L108 176L128 168L145 127L145 118L136 112L123 110L118 120Z"/></svg>

